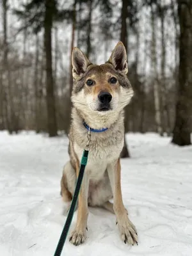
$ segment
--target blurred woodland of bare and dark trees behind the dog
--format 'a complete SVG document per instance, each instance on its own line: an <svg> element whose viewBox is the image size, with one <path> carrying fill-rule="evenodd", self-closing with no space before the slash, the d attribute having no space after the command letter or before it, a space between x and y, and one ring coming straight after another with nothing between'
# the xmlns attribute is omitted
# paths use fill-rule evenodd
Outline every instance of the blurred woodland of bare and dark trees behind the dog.
<svg viewBox="0 0 192 256"><path fill-rule="evenodd" d="M0 2L0 130L67 133L73 47L103 63L121 40L134 88L125 131L191 144L192 0Z"/></svg>

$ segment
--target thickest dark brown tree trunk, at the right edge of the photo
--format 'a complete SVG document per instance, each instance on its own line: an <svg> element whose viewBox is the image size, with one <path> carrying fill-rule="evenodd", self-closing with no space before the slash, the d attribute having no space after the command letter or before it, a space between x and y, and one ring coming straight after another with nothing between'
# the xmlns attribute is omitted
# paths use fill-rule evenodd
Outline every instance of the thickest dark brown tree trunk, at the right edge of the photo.
<svg viewBox="0 0 192 256"><path fill-rule="evenodd" d="M179 146L191 145L192 99L192 0L178 0L180 24L179 99L176 105L173 140Z"/></svg>

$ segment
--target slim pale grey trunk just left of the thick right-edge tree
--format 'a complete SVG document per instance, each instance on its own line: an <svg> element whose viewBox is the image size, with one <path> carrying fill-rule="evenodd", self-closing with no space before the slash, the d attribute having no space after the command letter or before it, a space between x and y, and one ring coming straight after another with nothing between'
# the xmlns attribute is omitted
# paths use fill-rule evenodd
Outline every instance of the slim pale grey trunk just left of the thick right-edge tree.
<svg viewBox="0 0 192 256"><path fill-rule="evenodd" d="M157 132L163 135L161 124L161 107L160 107L160 90L159 82L157 81L157 56L156 56L156 17L155 6L151 6L151 26L152 26L152 40L151 40L151 58L152 58L152 83L154 84L154 106L155 106L155 120Z"/></svg>

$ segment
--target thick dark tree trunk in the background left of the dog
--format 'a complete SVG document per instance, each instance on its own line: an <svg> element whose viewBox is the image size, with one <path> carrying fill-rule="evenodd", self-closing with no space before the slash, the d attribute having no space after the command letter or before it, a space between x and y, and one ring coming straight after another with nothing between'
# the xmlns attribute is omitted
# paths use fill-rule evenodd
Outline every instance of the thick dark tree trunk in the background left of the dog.
<svg viewBox="0 0 192 256"><path fill-rule="evenodd" d="M44 44L46 58L46 92L47 92L47 128L49 136L57 136L56 109L54 99L54 81L52 77L52 19L55 10L55 1L45 1Z"/></svg>

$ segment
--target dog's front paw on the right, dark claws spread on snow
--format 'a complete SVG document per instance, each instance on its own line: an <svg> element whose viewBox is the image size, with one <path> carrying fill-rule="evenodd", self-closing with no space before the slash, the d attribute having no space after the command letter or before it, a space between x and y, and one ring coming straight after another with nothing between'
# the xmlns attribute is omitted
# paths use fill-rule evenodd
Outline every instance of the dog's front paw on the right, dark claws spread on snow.
<svg viewBox="0 0 192 256"><path fill-rule="evenodd" d="M127 216L127 215L126 215ZM125 244L138 245L138 234L136 231L136 227L132 224L129 218L123 218L123 220L118 221L118 229L120 230L120 236L122 241Z"/></svg>

